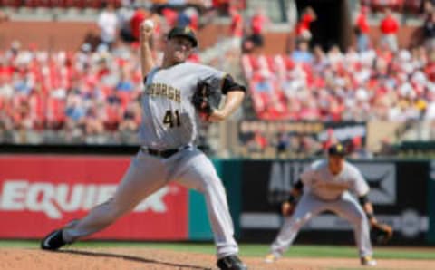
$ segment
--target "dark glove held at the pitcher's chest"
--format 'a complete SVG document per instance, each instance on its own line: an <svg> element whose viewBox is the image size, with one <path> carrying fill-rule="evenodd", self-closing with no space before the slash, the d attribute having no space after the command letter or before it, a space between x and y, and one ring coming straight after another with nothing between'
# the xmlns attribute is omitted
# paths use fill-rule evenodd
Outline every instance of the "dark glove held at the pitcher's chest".
<svg viewBox="0 0 435 270"><path fill-rule="evenodd" d="M221 93L213 91L211 84L200 81L198 82L197 91L193 93L192 103L198 112L209 116L218 109L221 98Z"/></svg>

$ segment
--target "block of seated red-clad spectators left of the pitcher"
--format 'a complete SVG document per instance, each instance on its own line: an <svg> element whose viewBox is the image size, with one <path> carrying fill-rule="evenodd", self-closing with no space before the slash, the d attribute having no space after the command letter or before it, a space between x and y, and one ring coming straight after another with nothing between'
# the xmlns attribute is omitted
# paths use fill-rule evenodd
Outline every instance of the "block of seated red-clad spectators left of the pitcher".
<svg viewBox="0 0 435 270"><path fill-rule="evenodd" d="M138 57L126 45L111 52L92 53L84 44L79 52L48 53L14 43L0 53L4 141L98 143L113 131L131 135L140 121Z"/></svg>

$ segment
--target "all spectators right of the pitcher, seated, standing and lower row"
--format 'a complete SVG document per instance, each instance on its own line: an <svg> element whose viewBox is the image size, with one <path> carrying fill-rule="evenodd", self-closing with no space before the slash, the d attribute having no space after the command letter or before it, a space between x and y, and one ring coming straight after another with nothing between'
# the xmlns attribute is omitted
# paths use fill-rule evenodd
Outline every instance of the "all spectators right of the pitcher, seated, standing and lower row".
<svg viewBox="0 0 435 270"><path fill-rule="evenodd" d="M319 140L318 133L285 130L280 122L404 123L435 118L435 9L431 2L425 2L421 14L423 42L417 41L409 49L399 48L401 25L389 7L377 10L383 14L378 43L369 36L369 6L362 5L360 10L354 22L355 46L345 52L338 45L327 50L321 45L310 49L310 24L316 14L307 7L295 24L295 50L242 56L256 115L264 121L279 121L275 127L261 121L242 124L239 139L244 155L304 158L321 154L331 143L344 140L353 158L368 159L372 153L359 135L339 139L331 129L327 139ZM383 138L378 154L394 152L393 142L392 138Z"/></svg>

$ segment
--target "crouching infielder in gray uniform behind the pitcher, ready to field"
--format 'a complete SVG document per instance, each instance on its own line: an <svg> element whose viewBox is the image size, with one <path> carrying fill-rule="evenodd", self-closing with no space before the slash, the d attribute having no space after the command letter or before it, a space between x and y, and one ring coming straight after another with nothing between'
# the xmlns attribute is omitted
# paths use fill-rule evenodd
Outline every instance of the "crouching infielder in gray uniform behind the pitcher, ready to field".
<svg viewBox="0 0 435 270"><path fill-rule="evenodd" d="M353 225L361 264L376 265L372 258L370 227L382 235L379 239L382 241L391 237L392 230L388 225L378 223L373 216L372 203L367 198L369 186L361 172L344 160L344 155L343 145L333 145L328 149L328 159L315 161L301 174L282 205L282 213L287 217L266 256L266 263L274 263L283 256L310 218L330 210ZM357 195L358 200L349 191Z"/></svg>

